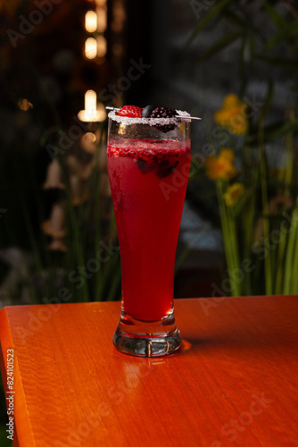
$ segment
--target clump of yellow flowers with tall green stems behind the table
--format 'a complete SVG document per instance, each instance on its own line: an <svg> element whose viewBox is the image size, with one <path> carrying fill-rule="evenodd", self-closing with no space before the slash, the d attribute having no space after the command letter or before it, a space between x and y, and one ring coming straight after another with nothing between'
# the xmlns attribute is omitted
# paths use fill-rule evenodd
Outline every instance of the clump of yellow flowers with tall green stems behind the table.
<svg viewBox="0 0 298 447"><path fill-rule="evenodd" d="M215 120L229 130L228 148L219 148L218 155L205 162L205 172L215 184L227 261L229 286L222 292L297 293L298 146L288 125L291 131L275 160L270 145L264 146L260 118L258 144L252 145L245 110L235 95L226 97ZM285 127L296 122L294 113L288 119Z"/></svg>

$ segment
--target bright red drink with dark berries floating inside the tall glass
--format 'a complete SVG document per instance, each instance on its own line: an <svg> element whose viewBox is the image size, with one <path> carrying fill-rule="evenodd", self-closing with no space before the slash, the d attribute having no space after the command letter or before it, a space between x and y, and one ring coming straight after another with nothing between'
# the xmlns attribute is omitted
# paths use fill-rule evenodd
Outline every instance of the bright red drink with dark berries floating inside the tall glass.
<svg viewBox="0 0 298 447"><path fill-rule="evenodd" d="M157 321L170 312L190 141L113 141L107 148L120 240L124 312Z"/></svg>

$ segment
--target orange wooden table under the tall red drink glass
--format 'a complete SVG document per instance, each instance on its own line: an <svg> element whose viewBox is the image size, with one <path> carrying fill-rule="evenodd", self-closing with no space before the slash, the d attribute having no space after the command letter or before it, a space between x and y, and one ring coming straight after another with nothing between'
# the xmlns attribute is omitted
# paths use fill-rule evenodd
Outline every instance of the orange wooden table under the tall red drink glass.
<svg viewBox="0 0 298 447"><path fill-rule="evenodd" d="M14 445L297 446L298 296L177 299L175 313L182 350L134 358L112 346L120 302L2 309Z"/></svg>

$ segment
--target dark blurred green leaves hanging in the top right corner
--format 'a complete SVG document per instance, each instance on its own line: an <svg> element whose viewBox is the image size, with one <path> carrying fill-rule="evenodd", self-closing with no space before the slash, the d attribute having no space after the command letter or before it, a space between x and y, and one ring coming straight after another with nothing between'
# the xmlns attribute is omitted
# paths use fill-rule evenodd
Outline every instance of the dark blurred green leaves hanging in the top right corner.
<svg viewBox="0 0 298 447"><path fill-rule="evenodd" d="M280 74L291 79L290 89L297 90L298 10L293 2L263 0L261 2L221 0L204 8L186 45L190 45L203 30L213 31L226 24L228 31L197 58L204 63L219 55L231 44L236 46L242 97L252 74L260 70L274 83Z"/></svg>

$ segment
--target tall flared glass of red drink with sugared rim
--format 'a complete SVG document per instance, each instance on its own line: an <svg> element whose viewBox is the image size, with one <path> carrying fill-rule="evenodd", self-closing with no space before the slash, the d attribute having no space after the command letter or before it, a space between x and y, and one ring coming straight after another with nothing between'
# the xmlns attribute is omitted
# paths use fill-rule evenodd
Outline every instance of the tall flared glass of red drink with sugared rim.
<svg viewBox="0 0 298 447"><path fill-rule="evenodd" d="M120 242L122 303L113 343L155 357L178 350L174 268L190 168L190 120L109 114L107 164Z"/></svg>

